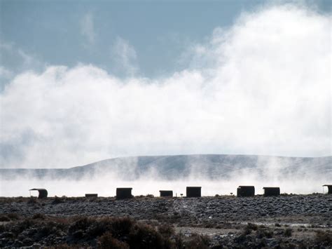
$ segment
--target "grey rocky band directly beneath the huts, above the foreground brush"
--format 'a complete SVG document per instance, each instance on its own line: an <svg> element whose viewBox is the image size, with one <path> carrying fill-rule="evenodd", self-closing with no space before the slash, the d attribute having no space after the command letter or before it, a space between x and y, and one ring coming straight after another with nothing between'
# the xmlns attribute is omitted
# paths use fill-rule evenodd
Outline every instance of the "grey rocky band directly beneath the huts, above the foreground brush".
<svg viewBox="0 0 332 249"><path fill-rule="evenodd" d="M165 220L183 225L255 221L331 226L332 195L288 195L237 198L0 198L0 213L29 217L36 213L56 216L111 215L137 220Z"/></svg>

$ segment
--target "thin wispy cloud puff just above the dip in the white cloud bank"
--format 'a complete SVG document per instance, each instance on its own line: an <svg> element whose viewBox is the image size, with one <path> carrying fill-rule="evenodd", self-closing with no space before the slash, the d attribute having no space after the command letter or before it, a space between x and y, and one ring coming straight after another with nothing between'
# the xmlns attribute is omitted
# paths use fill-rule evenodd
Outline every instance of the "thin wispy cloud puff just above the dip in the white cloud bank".
<svg viewBox="0 0 332 249"><path fill-rule="evenodd" d="M138 71L137 53L128 41L118 36L111 48L111 59L115 62L116 69L128 75Z"/></svg>

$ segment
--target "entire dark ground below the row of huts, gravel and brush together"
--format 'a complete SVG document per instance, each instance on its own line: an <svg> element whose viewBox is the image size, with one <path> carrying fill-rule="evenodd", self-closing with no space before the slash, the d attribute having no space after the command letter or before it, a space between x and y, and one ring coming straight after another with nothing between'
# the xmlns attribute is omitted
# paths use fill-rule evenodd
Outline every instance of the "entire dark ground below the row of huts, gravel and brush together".
<svg viewBox="0 0 332 249"><path fill-rule="evenodd" d="M65 196L43 200L0 198L0 214L0 247L102 248L109 239L113 241L109 243L118 243L113 248L332 248L332 195L328 194L140 196L118 201ZM112 227L110 224L118 217L130 220L127 234L116 236L115 231L104 228L91 232L96 226ZM78 224L84 219L82 228ZM137 241L153 241L151 236L149 240L139 238L144 232L135 235L140 229L154 233L153 238L163 242L139 245ZM107 237L111 231L113 235Z"/></svg>

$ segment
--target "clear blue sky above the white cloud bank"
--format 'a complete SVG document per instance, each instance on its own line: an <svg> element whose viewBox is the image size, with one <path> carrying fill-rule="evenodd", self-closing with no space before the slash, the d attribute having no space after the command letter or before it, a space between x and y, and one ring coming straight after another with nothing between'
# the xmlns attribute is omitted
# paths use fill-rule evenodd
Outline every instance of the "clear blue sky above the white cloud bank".
<svg viewBox="0 0 332 249"><path fill-rule="evenodd" d="M0 41L12 47L2 47L1 65L15 74L81 62L117 76L165 76L187 67L186 48L204 42L216 27L229 27L243 11L279 2L1 0ZM331 11L331 1L307 3ZM133 72L119 63L119 41L134 53L128 55Z"/></svg>

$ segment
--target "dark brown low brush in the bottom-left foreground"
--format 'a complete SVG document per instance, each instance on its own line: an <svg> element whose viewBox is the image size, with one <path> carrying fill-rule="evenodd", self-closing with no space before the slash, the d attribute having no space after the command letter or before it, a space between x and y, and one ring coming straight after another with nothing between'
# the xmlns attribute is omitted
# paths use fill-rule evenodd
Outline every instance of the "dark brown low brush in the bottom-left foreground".
<svg viewBox="0 0 332 249"><path fill-rule="evenodd" d="M10 221L2 215L3 220ZM184 238L170 224L152 226L129 217L48 217L37 214L0 227L0 247L207 248L209 238Z"/></svg>

